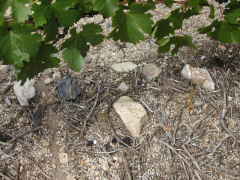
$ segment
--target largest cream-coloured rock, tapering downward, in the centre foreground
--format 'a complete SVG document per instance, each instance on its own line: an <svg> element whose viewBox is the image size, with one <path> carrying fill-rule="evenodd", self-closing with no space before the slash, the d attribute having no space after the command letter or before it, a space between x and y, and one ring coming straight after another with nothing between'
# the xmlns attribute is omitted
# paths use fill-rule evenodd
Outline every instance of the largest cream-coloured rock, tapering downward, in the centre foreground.
<svg viewBox="0 0 240 180"><path fill-rule="evenodd" d="M133 137L137 137L141 133L143 124L147 121L148 116L144 107L134 102L128 96L122 96L113 104L117 114L121 117L123 123L130 131Z"/></svg>

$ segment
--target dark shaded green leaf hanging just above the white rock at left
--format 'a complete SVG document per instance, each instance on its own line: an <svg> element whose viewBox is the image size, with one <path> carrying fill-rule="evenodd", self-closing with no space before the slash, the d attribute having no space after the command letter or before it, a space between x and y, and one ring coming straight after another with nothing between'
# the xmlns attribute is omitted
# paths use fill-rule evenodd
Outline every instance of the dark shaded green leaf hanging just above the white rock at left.
<svg viewBox="0 0 240 180"><path fill-rule="evenodd" d="M53 57L57 52L52 45L42 44L35 58L31 58L29 62L23 62L24 66L20 69L17 80L21 80L23 85L27 78L32 79L47 68L58 67L60 60Z"/></svg>

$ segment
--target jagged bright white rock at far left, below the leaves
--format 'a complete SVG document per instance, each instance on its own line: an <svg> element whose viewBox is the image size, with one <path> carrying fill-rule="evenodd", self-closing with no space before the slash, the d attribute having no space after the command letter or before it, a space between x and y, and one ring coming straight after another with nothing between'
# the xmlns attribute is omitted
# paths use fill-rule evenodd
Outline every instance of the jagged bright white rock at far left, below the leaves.
<svg viewBox="0 0 240 180"><path fill-rule="evenodd" d="M27 79L23 86L21 86L20 83L21 81L14 82L14 93L21 106L28 106L28 101L35 96L35 81L33 79L30 81Z"/></svg>

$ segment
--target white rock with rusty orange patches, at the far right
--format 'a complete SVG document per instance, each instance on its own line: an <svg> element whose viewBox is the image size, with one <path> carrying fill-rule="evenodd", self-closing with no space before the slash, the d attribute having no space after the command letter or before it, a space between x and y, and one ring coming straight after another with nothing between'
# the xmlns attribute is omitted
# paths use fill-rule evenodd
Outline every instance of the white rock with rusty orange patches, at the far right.
<svg viewBox="0 0 240 180"><path fill-rule="evenodd" d="M205 89L215 90L215 83L206 69L193 68L189 64L186 64L182 70L182 75L186 79L192 79L194 83L199 84Z"/></svg>

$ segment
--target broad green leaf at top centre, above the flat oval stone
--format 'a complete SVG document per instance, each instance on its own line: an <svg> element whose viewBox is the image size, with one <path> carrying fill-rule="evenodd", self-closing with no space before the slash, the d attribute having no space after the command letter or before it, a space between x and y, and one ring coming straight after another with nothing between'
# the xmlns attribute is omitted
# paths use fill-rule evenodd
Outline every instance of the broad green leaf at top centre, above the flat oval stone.
<svg viewBox="0 0 240 180"><path fill-rule="evenodd" d="M138 10L136 11L136 7ZM114 40L121 40L122 42L131 42L136 44L140 40L144 39L144 35L139 30L141 29L147 34L152 30L152 15L146 13L146 8L143 5L132 4L130 11L124 12L123 9L119 9L113 16L112 26L113 31L109 37Z"/></svg>

